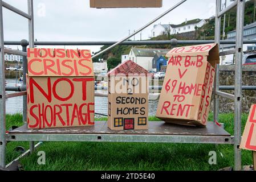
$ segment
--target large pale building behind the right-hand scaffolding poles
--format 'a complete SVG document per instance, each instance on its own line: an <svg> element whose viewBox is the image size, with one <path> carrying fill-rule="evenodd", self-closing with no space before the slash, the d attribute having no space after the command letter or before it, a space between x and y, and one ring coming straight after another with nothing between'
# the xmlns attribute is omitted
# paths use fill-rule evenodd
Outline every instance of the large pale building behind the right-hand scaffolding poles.
<svg viewBox="0 0 256 182"><path fill-rule="evenodd" d="M235 40L236 31L230 31L227 33L227 40ZM256 22L248 24L243 27L243 40L256 40ZM223 47L223 51L234 49L234 44L226 44ZM222 45L220 46L222 51ZM243 52L256 50L256 44L243 44ZM220 64L233 64L234 55L221 56Z"/></svg>

